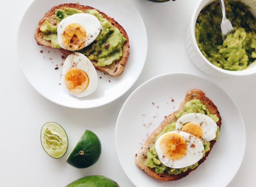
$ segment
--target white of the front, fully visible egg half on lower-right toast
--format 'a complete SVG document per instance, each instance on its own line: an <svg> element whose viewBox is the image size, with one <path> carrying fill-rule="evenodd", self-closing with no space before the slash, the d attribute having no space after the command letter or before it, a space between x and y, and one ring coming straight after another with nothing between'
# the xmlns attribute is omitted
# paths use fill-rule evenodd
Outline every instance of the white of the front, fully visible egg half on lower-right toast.
<svg viewBox="0 0 256 187"><path fill-rule="evenodd" d="M160 149L160 140L164 135L167 134L165 133L161 135L155 143L158 159L161 161L163 165L166 165L167 167L171 167L171 168L183 168L183 167L188 167L190 165L193 165L194 163L198 162L202 158L204 154L204 145L202 141L200 141L200 139L183 131L168 132L168 134L172 134L172 133L176 133L180 135L186 141L186 145L187 145L186 155L184 155L184 157L180 159L172 160L166 157L164 153L162 153ZM194 145L192 146L192 144Z"/></svg>

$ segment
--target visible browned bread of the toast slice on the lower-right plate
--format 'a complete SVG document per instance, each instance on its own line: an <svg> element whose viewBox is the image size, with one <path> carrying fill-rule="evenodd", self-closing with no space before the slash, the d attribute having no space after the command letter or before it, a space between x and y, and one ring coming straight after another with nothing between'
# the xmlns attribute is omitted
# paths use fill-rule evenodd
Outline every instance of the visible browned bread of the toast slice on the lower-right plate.
<svg viewBox="0 0 256 187"><path fill-rule="evenodd" d="M206 108L209 110L209 112L211 114L216 114L217 117L219 118L217 125L220 127L221 117L220 117L218 108L214 105L214 103L208 97L205 96L205 94L204 94L204 92L202 92L202 90L188 91L186 93L184 100L180 103L179 110L183 110L184 104L187 101L190 101L192 99L199 99L204 105L206 105ZM138 153L136 153L136 155L135 155L136 165L140 169L144 170L151 177L154 177L155 179L158 179L161 181L176 181L178 179L186 177L186 175L188 175L191 171L195 170L201 163L203 163L206 160L207 156L209 155L210 151L212 150L214 143L216 142L215 140L210 141L210 150L205 153L205 156L200 161L198 161L198 166L196 168L188 169L186 172L181 172L178 175L173 175L173 174L168 174L168 173L156 173L154 168L150 168L150 167L146 166L147 153L148 153L150 147L155 143L155 139L156 139L157 135L164 129L164 127L166 125L177 121L177 118L175 116L175 114L177 112L178 112L178 110L174 111L173 113L168 115L168 117L166 117L166 119L162 122L162 124L151 133L151 135L148 137L148 139L146 140L146 142L144 143L144 145L142 146L140 151L138 151Z"/></svg>

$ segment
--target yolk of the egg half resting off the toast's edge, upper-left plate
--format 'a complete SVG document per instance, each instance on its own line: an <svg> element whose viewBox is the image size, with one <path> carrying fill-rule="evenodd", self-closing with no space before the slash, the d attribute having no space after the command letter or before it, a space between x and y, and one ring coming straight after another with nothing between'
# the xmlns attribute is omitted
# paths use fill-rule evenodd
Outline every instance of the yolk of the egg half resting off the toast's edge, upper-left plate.
<svg viewBox="0 0 256 187"><path fill-rule="evenodd" d="M66 72L65 86L70 92L80 94L88 87L88 85L89 77L83 70L72 68Z"/></svg>

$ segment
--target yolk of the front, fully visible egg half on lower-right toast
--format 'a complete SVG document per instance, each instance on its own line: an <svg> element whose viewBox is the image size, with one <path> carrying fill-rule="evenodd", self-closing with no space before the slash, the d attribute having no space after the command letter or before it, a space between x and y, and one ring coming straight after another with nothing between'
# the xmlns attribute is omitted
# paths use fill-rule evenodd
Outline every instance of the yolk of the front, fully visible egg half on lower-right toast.
<svg viewBox="0 0 256 187"><path fill-rule="evenodd" d="M186 141L178 134L164 135L160 140L160 149L165 157L177 160L186 155Z"/></svg>

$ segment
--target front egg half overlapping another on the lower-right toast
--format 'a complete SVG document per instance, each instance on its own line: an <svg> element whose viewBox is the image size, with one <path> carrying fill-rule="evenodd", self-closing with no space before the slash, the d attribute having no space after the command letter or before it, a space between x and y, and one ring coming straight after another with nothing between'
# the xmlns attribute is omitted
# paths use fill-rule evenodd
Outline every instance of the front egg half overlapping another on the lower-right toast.
<svg viewBox="0 0 256 187"><path fill-rule="evenodd" d="M161 163L171 168L193 165L204 154L202 141L183 131L164 133L156 140L155 148Z"/></svg>

